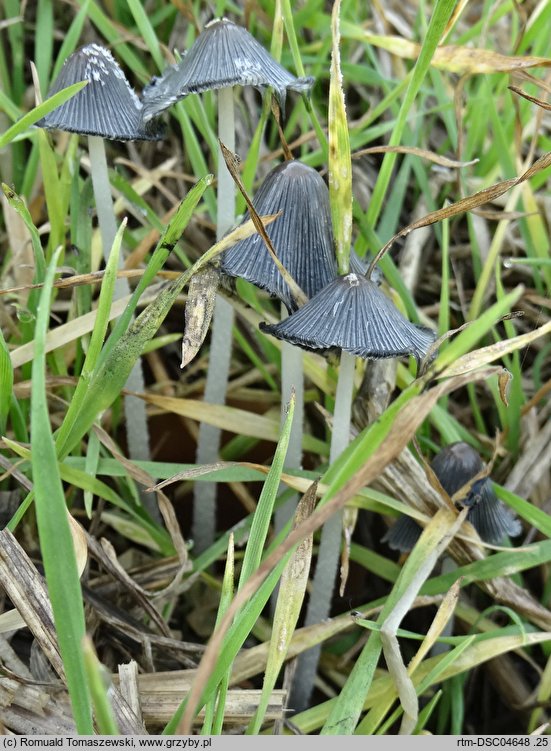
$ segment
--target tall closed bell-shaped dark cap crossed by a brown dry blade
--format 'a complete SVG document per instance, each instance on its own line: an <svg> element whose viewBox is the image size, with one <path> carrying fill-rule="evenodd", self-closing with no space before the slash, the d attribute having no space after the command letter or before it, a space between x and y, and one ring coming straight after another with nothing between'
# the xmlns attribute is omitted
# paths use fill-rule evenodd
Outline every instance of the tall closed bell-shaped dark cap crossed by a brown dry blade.
<svg viewBox="0 0 551 751"><path fill-rule="evenodd" d="M279 260L307 297L313 297L336 277L329 191L316 170L299 161L280 164L264 179L254 207L261 215L283 212L267 233ZM252 235L227 250L222 271L268 290L289 312L296 310L291 290L260 235Z"/></svg>

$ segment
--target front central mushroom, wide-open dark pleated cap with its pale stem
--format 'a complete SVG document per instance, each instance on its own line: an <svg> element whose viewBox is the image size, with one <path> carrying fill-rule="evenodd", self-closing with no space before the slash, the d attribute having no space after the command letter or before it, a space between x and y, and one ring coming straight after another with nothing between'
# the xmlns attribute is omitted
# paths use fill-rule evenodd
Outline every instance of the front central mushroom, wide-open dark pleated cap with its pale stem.
<svg viewBox="0 0 551 751"><path fill-rule="evenodd" d="M436 338L431 329L406 320L375 282L354 272L338 276L284 321L273 325L261 323L260 328L304 349L341 350L330 464L349 441L355 356L378 359L413 355L419 363ZM341 534L342 514L335 514L322 531L305 625L328 617ZM318 647L301 655L302 680L297 682L292 697L296 709L308 704L318 658Z"/></svg>

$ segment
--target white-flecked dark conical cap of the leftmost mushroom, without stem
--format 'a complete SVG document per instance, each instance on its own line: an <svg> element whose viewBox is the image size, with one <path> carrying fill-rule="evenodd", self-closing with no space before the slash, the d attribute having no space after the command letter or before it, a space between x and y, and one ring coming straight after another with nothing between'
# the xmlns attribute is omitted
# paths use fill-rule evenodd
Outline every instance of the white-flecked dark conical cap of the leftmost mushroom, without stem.
<svg viewBox="0 0 551 751"><path fill-rule="evenodd" d="M109 50L88 44L73 52L48 96L79 81L88 84L39 120L39 127L114 141L156 141L163 137L158 122L144 126L142 103Z"/></svg>

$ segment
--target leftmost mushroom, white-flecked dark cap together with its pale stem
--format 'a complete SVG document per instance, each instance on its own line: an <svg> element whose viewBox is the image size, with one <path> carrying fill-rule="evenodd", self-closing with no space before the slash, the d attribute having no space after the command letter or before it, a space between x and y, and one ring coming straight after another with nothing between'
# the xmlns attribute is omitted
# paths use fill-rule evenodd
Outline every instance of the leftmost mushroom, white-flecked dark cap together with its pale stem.
<svg viewBox="0 0 551 751"><path fill-rule="evenodd" d="M150 119L147 123L144 122L141 101L130 87L118 63L104 47L88 44L73 52L65 61L48 96L78 81L88 81L88 85L39 120L37 125L48 130L64 130L88 136L92 185L103 255L107 260L117 232L117 224L111 199L104 139L159 140L163 137L163 129L157 120ZM115 297L124 297L129 293L128 280L117 279ZM126 385L130 391L145 390L141 362L136 362ZM136 397L126 396L124 410L129 454L134 459L147 459L149 433L145 403ZM159 518L155 505L148 503L148 510Z"/></svg>

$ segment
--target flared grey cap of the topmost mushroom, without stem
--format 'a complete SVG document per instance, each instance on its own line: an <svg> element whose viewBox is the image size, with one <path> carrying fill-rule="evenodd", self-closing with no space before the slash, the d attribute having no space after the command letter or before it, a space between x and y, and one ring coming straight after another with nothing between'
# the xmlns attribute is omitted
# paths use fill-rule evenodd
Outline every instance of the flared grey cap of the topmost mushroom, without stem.
<svg viewBox="0 0 551 751"><path fill-rule="evenodd" d="M287 89L308 91L314 79L285 70L242 26L227 18L205 26L182 60L144 89L145 118L154 117L187 94L227 86L271 86L285 105Z"/></svg>

